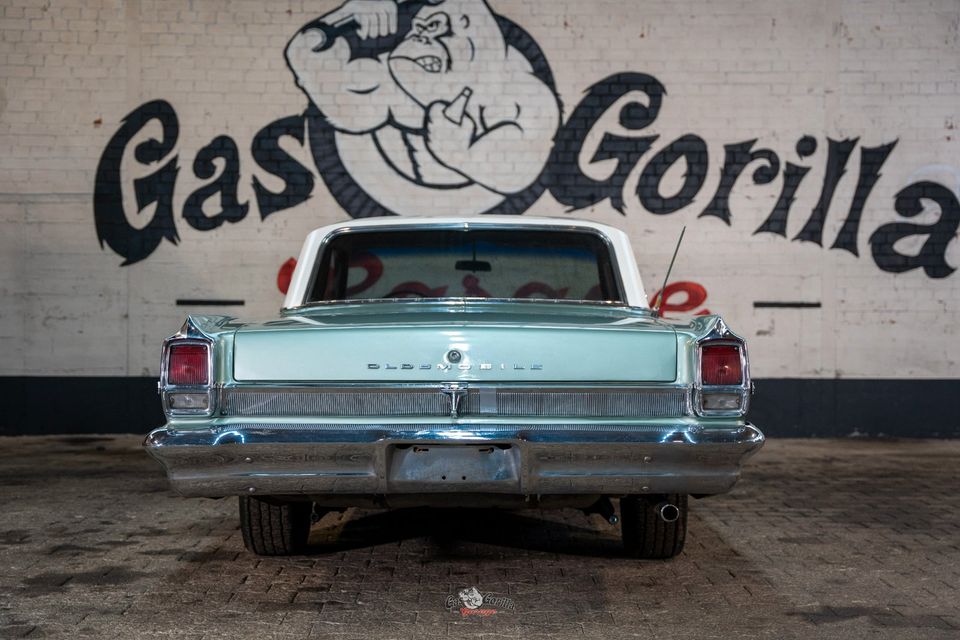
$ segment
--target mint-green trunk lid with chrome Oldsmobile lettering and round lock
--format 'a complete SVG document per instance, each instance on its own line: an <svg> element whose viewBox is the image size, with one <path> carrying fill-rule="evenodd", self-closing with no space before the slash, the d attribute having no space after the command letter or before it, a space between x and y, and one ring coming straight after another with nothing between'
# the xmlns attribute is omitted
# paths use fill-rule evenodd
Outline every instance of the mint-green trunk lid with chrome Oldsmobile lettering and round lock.
<svg viewBox="0 0 960 640"><path fill-rule="evenodd" d="M672 382L677 339L672 327L629 307L330 305L238 329L233 373L238 382L270 383Z"/></svg>

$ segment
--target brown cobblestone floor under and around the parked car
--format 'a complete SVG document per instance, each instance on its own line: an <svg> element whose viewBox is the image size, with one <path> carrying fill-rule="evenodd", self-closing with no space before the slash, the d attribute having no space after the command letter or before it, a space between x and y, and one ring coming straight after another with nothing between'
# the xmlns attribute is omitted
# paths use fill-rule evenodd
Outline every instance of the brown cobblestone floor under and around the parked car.
<svg viewBox="0 0 960 640"><path fill-rule="evenodd" d="M577 511L355 509L263 559L139 438L0 438L0 637L957 639L958 489L960 441L772 441L672 561Z"/></svg>

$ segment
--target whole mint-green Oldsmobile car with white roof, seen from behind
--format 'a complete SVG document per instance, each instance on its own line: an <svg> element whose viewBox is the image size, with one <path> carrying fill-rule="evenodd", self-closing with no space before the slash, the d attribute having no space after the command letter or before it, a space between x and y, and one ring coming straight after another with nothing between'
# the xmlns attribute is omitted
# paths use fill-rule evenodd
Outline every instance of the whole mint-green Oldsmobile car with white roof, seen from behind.
<svg viewBox="0 0 960 640"><path fill-rule="evenodd" d="M659 318L626 235L567 219L318 229L279 318L187 318L160 389L145 447L181 494L240 496L264 555L331 509L443 506L580 508L672 557L687 497L763 444L743 340Z"/></svg>

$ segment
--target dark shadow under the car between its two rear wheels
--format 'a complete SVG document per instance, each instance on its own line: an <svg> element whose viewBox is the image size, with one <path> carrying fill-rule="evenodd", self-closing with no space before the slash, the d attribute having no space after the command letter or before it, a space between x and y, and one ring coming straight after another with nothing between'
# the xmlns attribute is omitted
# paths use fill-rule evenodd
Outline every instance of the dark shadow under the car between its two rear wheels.
<svg viewBox="0 0 960 640"><path fill-rule="evenodd" d="M600 516L562 511L564 520L578 521L571 524L561 521L560 514L542 510L348 509L327 514L314 525L308 553L322 555L429 538L451 555L476 556L483 553L483 545L579 556L623 554L619 527L606 524Z"/></svg>

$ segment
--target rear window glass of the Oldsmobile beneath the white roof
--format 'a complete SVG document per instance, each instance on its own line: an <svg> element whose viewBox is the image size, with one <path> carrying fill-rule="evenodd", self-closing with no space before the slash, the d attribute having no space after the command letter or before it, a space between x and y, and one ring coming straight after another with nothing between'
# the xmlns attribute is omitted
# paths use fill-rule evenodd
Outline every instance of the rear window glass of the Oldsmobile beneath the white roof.
<svg viewBox="0 0 960 640"><path fill-rule="evenodd" d="M334 236L306 302L460 297L623 301L596 233L418 229Z"/></svg>

